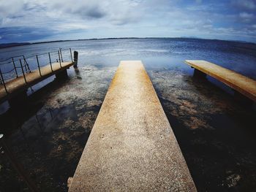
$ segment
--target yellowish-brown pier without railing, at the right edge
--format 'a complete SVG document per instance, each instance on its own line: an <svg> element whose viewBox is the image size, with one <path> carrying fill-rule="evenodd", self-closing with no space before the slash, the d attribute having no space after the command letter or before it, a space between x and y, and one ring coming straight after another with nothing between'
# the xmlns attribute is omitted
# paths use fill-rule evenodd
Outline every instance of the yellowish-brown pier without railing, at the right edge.
<svg viewBox="0 0 256 192"><path fill-rule="evenodd" d="M208 61L186 60L187 64L224 82L244 96L256 101L256 81Z"/></svg>

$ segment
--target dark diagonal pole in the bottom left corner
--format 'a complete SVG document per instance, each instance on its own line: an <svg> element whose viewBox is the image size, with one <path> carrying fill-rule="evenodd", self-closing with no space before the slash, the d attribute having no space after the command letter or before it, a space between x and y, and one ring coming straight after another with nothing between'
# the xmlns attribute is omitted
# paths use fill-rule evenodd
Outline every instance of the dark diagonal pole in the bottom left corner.
<svg viewBox="0 0 256 192"><path fill-rule="evenodd" d="M5 142L3 134L0 134L0 144L3 149L4 154L6 154L8 158L10 158L10 162L11 162L12 166L14 166L14 168L17 170L18 174L20 174L20 177L22 177L23 180L26 182L26 184L29 186L30 191L38 191L37 186L30 179L29 174L26 173L23 166L15 158L15 155L12 153L12 150L10 149L7 142Z"/></svg>

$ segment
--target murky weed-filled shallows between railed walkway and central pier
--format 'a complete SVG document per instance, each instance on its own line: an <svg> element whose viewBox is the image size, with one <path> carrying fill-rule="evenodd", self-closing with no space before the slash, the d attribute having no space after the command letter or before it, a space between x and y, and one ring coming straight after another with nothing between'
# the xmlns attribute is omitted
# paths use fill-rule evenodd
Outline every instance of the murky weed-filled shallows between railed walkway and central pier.
<svg viewBox="0 0 256 192"><path fill-rule="evenodd" d="M29 115L13 126L7 142L40 191L67 191L115 69L81 67L68 80L31 94L28 107L19 111ZM4 114L7 122L11 115ZM28 190L6 155L0 164L0 191Z"/></svg>

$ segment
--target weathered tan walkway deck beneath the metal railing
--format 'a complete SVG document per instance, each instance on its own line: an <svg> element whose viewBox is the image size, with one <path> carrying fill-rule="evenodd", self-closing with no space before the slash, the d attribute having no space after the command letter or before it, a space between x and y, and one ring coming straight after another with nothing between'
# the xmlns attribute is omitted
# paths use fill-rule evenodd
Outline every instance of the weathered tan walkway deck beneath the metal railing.
<svg viewBox="0 0 256 192"><path fill-rule="evenodd" d="M52 76L53 74L58 74L61 71L66 70L73 64L74 64L73 62L62 62L60 66L59 63L54 63L52 64L53 72L50 68L50 64L48 66L43 66L42 68L40 68L42 76L39 74L38 69L31 73L26 74L27 83L25 82L23 76L15 78L14 80L11 80L6 83L8 93L6 93L4 89L4 85L0 85L0 104L3 101L6 101L7 99L11 99L20 91L24 91L27 88L31 87L32 85L37 84L37 82L45 80L46 78Z"/></svg>

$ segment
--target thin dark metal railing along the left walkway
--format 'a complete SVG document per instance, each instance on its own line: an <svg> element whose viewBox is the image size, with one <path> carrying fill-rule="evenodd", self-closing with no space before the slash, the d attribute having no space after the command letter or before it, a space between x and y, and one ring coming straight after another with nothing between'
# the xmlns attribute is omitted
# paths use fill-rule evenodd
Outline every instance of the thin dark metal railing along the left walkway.
<svg viewBox="0 0 256 192"><path fill-rule="evenodd" d="M23 76L25 83L28 84L26 74L38 69L39 74L42 77L41 67L48 64L50 64L50 69L53 72L52 61L55 59L56 62L59 63L60 67L62 67L61 63L70 61L70 59L73 62L71 48L59 48L58 51L34 54L28 57L18 55L12 58L4 59L0 61L0 85L4 85L4 89L6 93L8 93L7 82L14 80L15 78ZM45 65L42 65L42 63Z"/></svg>

